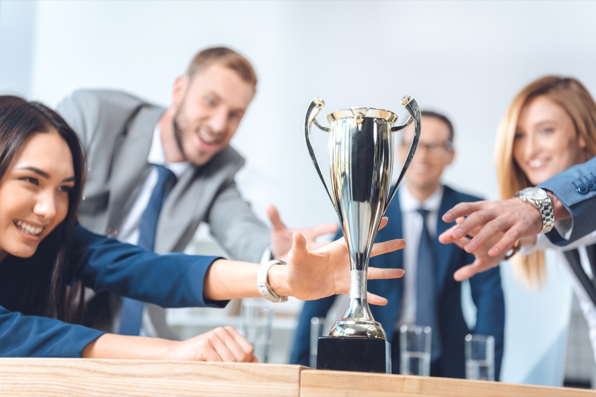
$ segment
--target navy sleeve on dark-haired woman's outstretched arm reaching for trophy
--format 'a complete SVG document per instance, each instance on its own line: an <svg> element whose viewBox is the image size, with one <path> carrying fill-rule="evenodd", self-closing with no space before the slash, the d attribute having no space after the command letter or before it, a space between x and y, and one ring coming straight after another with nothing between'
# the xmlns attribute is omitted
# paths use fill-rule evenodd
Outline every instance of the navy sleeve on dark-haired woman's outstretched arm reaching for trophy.
<svg viewBox="0 0 596 397"><path fill-rule="evenodd" d="M204 280L213 256L155 254L77 226L72 258L76 279L95 292L162 307L224 307L228 301L205 301Z"/></svg>

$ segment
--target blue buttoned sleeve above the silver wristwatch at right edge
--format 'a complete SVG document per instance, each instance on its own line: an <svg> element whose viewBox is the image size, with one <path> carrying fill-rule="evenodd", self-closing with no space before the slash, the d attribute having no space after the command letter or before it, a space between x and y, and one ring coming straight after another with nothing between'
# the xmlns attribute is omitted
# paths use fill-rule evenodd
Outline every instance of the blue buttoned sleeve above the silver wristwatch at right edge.
<svg viewBox="0 0 596 397"><path fill-rule="evenodd" d="M565 240L553 229L547 237L554 244L567 245L596 229L596 157L583 164L575 165L555 175L540 188L552 191L569 211L572 219L572 232ZM556 219L555 219L556 221Z"/></svg>

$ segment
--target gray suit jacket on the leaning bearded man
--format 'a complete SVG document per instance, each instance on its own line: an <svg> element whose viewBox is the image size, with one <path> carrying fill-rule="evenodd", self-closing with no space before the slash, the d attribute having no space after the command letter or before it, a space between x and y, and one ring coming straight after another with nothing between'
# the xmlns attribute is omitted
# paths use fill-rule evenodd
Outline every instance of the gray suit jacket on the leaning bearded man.
<svg viewBox="0 0 596 397"><path fill-rule="evenodd" d="M79 206L83 226L117 237L153 167L147 156L164 110L108 90L79 90L58 104L58 113L76 131L87 153L87 182ZM207 222L231 259L258 262L270 235L237 190L234 177L243 165L244 159L228 147L206 165L188 168L163 204L154 250L184 251L198 225ZM172 337L155 325L160 336Z"/></svg>

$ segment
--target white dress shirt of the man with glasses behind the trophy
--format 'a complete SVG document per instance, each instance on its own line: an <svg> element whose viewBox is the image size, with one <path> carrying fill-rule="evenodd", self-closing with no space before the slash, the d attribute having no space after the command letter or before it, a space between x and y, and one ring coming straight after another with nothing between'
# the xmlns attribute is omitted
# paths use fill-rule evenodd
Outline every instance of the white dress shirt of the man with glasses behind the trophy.
<svg viewBox="0 0 596 397"><path fill-rule="evenodd" d="M405 185L398 189L398 194L399 206L402 211L403 238L408 242L403 248L403 270L406 276L403 278L402 316L396 324L399 329L401 324L414 324L416 322L418 245L420 245L420 234L422 233L422 217L418 213L418 209L429 211L426 218L427 227L431 236L436 237L443 187L437 189L432 196L422 203L409 193Z"/></svg>

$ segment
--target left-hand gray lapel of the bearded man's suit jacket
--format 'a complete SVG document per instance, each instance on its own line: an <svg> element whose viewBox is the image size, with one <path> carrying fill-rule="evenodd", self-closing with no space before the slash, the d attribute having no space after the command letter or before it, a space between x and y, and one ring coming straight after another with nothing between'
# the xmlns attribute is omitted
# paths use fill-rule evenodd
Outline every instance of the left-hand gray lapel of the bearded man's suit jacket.
<svg viewBox="0 0 596 397"><path fill-rule="evenodd" d="M110 177L108 234L122 226L128 211L126 201L135 188L141 187L151 171L147 156L153 130L162 113L163 109L160 108L139 107L139 111L131 117L120 135Z"/></svg>

